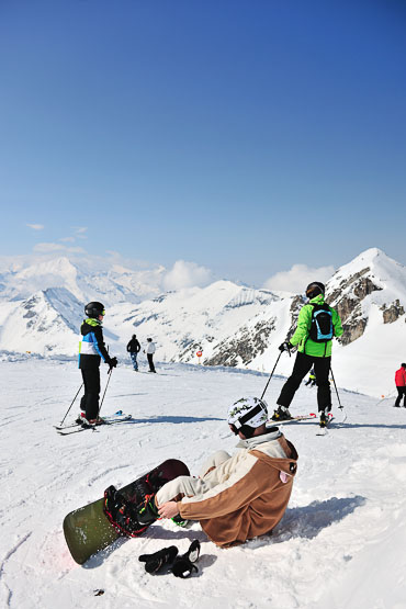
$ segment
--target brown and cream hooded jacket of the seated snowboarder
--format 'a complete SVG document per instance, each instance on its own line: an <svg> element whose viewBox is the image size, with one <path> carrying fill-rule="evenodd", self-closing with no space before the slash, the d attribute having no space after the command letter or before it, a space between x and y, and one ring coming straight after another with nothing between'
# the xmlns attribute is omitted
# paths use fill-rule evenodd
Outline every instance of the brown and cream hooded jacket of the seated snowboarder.
<svg viewBox="0 0 406 609"><path fill-rule="evenodd" d="M241 440L237 448L241 450L203 476L214 487L178 503L182 518L199 520L207 537L225 548L278 525L296 473L296 450L279 431Z"/></svg>

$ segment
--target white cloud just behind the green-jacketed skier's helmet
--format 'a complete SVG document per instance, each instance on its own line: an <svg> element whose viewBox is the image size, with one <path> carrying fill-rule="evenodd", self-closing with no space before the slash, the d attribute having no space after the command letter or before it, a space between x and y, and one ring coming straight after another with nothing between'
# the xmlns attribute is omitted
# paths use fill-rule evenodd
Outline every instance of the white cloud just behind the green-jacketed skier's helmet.
<svg viewBox="0 0 406 609"><path fill-rule="evenodd" d="M302 294L312 281L325 283L332 273L334 267L319 267L318 269L306 264L293 264L290 271L280 271L270 277L263 284L267 290L281 290Z"/></svg>

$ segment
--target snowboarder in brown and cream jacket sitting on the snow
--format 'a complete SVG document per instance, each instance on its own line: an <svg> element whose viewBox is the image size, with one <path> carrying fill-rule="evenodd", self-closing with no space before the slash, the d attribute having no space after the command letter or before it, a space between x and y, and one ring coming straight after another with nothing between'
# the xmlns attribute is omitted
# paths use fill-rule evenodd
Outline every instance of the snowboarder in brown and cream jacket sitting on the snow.
<svg viewBox="0 0 406 609"><path fill-rule="evenodd" d="M258 397L233 404L228 426L240 450L234 456L219 450L199 477L181 475L145 495L137 514L133 511L135 527L142 530L158 518L199 520L207 537L224 548L270 532L287 507L297 452L267 420L267 404Z"/></svg>

